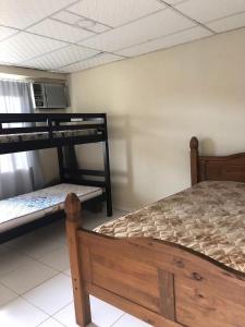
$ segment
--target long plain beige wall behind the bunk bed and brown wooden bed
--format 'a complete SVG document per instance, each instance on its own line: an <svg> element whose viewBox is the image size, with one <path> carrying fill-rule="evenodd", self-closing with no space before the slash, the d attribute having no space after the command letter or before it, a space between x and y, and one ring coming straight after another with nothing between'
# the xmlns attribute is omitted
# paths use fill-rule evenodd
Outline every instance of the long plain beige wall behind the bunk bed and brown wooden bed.
<svg viewBox="0 0 245 327"><path fill-rule="evenodd" d="M188 186L192 135L205 154L245 150L245 29L74 73L70 87L74 111L108 112L115 207Z"/></svg>

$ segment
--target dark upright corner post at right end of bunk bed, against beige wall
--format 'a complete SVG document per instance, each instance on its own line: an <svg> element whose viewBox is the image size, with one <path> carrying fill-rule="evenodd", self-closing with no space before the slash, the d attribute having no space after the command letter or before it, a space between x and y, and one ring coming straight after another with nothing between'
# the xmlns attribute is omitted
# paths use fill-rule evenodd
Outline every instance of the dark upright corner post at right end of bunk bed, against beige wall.
<svg viewBox="0 0 245 327"><path fill-rule="evenodd" d="M111 178L110 178L110 158L108 145L108 130L107 130L107 113L103 116L105 122L105 142L103 142L103 167L105 167L105 182L106 182L106 199L107 199L107 216L112 216L111 202Z"/></svg>

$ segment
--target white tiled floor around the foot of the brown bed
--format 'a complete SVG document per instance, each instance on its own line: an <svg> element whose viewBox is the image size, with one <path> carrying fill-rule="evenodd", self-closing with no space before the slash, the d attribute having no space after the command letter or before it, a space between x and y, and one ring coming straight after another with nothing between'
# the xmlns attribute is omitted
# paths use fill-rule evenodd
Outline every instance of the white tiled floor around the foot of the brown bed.
<svg viewBox="0 0 245 327"><path fill-rule="evenodd" d="M105 213L84 216L88 229L107 219ZM89 327L149 326L96 298L90 304ZM0 245L0 326L77 326L63 221Z"/></svg>

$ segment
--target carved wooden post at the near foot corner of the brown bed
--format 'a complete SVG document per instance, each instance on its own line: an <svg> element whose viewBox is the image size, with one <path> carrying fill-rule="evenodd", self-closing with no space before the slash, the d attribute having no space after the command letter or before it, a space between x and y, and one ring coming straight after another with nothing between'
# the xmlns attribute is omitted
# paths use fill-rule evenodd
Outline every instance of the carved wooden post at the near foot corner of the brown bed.
<svg viewBox="0 0 245 327"><path fill-rule="evenodd" d="M81 202L74 193L70 193L65 199L66 238L72 271L73 295L76 323L81 327L91 322L89 295L83 284L82 266L79 262L79 244L77 231L81 225Z"/></svg>

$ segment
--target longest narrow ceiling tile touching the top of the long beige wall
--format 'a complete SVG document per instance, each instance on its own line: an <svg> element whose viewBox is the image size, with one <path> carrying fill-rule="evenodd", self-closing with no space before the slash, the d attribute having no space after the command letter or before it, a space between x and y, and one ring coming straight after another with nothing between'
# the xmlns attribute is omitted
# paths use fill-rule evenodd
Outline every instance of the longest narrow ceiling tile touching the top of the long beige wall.
<svg viewBox="0 0 245 327"><path fill-rule="evenodd" d="M207 37L212 35L208 29L196 26L186 31L179 32L176 34L168 35L145 44L140 44L124 50L117 52L118 55L125 57L135 57L144 53L148 53L155 50L170 48L175 45L185 44L195 39Z"/></svg>

